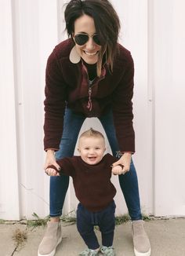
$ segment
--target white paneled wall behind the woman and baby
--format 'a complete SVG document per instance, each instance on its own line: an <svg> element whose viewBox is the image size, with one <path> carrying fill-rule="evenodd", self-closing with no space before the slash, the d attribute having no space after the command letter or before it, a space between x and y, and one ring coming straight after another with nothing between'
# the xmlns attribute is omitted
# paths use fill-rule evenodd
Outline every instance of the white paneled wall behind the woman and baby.
<svg viewBox="0 0 185 256"><path fill-rule="evenodd" d="M0 0L0 218L49 213L49 177L42 171L45 64L63 37L62 0ZM120 42L135 60L135 161L142 209L185 215L185 16L182 1L114 0ZM102 130L96 119L89 126ZM103 131L103 130L102 130ZM107 147L109 150L109 147ZM117 214L127 211L117 177ZM69 189L64 212L77 205Z"/></svg>

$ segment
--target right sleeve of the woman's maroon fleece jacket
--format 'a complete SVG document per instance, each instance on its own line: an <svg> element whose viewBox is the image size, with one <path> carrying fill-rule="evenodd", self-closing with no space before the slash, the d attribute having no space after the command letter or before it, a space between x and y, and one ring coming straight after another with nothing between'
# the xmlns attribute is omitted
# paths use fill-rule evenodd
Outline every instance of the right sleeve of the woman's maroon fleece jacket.
<svg viewBox="0 0 185 256"><path fill-rule="evenodd" d="M114 125L120 151L135 152L135 133L132 124L134 64L129 52L125 62L125 71L113 94Z"/></svg>

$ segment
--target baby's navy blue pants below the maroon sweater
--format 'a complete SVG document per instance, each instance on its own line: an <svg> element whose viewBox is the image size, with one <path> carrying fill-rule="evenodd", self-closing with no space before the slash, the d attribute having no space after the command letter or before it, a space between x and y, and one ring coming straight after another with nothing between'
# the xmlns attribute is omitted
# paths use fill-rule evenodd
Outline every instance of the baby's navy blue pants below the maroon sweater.
<svg viewBox="0 0 185 256"><path fill-rule="evenodd" d="M107 208L95 213L87 210L84 206L82 206L82 203L78 204L77 229L89 249L96 250L100 247L94 232L95 225L99 226L100 228L102 245L104 247L112 246L115 228L114 213L114 201Z"/></svg>

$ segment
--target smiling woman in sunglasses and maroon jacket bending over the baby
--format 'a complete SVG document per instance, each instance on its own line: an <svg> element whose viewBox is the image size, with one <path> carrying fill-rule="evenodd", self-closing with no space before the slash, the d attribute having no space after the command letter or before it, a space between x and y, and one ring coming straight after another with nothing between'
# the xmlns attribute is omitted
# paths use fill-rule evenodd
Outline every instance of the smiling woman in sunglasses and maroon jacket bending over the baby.
<svg viewBox="0 0 185 256"><path fill-rule="evenodd" d="M71 0L64 14L69 38L53 49L46 68L45 170L51 164L59 169L56 159L74 154L86 117L100 119L113 155L120 155L114 165L124 166L119 183L132 219L135 254L151 255L131 157L134 67L129 51L118 44L118 15L107 0ZM50 221L38 256L54 255L62 240L60 215L68 183L68 177L50 177Z"/></svg>

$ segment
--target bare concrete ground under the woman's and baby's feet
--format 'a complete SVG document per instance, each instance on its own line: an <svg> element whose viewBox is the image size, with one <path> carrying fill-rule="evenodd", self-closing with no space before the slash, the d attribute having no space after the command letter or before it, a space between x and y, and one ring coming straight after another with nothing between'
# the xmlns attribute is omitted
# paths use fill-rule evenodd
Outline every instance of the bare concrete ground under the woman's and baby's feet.
<svg viewBox="0 0 185 256"><path fill-rule="evenodd" d="M134 256L131 222L115 229L114 248L117 256ZM151 256L185 256L185 219L153 220L145 223L151 240ZM13 234L17 229L27 233L27 240L16 248ZM27 228L27 225L0 224L0 256L37 256L38 245L45 228ZM97 231L100 240L100 232ZM56 256L73 256L85 249L76 225L63 226L63 240L56 249Z"/></svg>

